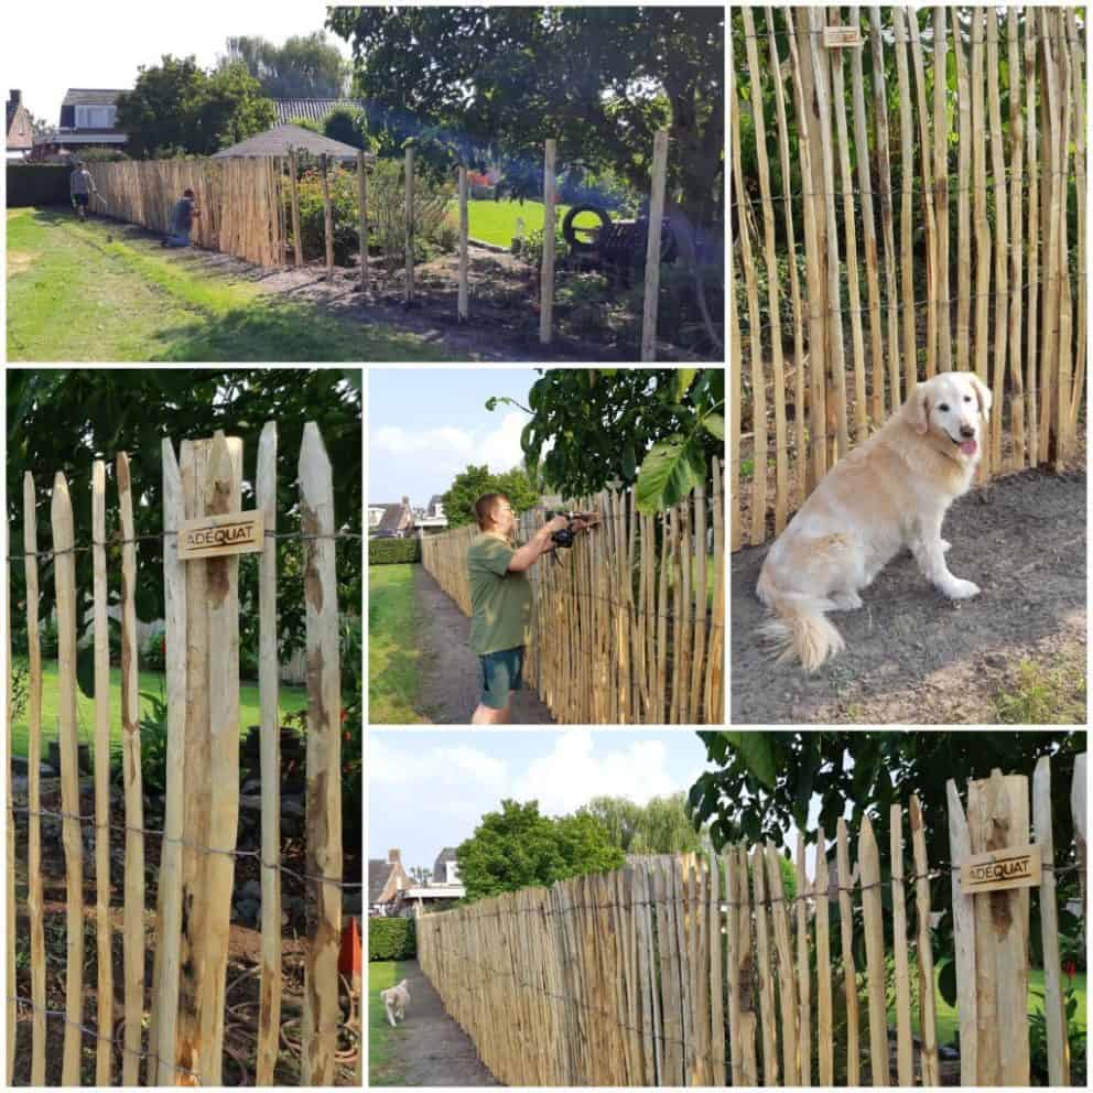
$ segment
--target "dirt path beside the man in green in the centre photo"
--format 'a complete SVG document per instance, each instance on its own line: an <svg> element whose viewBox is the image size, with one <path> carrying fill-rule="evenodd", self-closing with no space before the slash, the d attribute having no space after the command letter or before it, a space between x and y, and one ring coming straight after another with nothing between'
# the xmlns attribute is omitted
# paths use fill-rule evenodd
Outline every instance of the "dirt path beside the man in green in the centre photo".
<svg viewBox="0 0 1093 1093"><path fill-rule="evenodd" d="M424 566L415 565L413 572L424 652L422 708L434 724L467 725L480 693L478 658L470 651L470 619ZM553 724L550 711L527 683L512 696L512 724Z"/></svg>

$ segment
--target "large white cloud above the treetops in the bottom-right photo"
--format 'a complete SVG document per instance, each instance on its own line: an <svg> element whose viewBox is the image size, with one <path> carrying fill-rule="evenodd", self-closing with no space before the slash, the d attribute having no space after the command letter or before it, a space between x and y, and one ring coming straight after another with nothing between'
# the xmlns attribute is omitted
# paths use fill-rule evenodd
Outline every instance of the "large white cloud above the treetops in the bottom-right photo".
<svg viewBox="0 0 1093 1093"><path fill-rule="evenodd" d="M533 759L515 780L512 796L519 801L538 800L540 811L560 815L594 797L626 797L645 804L679 789L665 770L668 749L661 740L634 740L612 749L608 742L615 738L602 735L597 743L607 747L595 755L588 729L561 734L552 751Z"/></svg>

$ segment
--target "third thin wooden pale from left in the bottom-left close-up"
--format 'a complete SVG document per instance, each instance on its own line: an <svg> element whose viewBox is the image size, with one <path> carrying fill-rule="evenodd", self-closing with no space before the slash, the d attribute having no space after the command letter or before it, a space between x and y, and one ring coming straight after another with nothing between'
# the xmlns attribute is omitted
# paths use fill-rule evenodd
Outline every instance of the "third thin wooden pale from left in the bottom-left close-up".
<svg viewBox="0 0 1093 1093"><path fill-rule="evenodd" d="M113 945L110 928L110 648L107 631L106 464L91 465L91 559L95 628L95 941L99 1040L95 1084L110 1085L113 1037ZM105 1038L104 1038L105 1037Z"/></svg>

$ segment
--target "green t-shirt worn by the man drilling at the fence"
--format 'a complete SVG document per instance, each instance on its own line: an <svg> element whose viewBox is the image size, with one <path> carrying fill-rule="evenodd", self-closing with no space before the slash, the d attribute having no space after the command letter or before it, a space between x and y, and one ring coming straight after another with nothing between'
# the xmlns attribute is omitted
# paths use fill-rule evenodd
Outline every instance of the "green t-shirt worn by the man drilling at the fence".
<svg viewBox="0 0 1093 1093"><path fill-rule="evenodd" d="M510 573L516 551L497 535L478 535L467 549L470 580L470 648L479 657L528 643L531 582Z"/></svg>

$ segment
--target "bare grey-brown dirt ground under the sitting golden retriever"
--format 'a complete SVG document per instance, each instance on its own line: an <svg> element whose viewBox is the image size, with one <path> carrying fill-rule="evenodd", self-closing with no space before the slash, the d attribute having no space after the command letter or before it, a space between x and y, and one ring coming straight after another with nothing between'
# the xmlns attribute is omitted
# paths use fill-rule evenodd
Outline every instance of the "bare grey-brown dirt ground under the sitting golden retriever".
<svg viewBox="0 0 1093 1093"><path fill-rule="evenodd" d="M901 555L861 609L831 616L846 649L811 678L755 641L768 546L734 554L733 723L994 723L995 697L1026 658L1080 681L1084 719L1085 472L999 479L961 498L943 533L950 567L982 594L950 602Z"/></svg>

